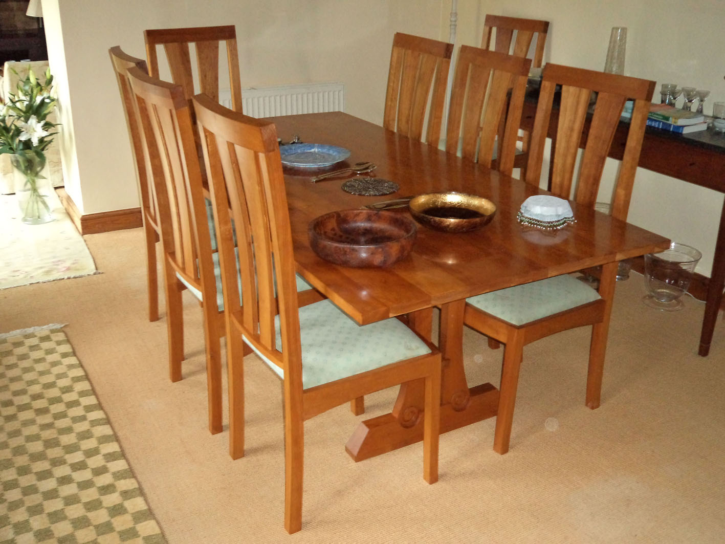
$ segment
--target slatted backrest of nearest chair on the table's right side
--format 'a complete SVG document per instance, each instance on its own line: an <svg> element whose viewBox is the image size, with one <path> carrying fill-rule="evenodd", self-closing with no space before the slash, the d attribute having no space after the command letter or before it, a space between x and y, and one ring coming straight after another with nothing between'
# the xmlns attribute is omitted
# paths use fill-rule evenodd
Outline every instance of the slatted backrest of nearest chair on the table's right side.
<svg viewBox="0 0 725 544"><path fill-rule="evenodd" d="M561 94L555 148L552 149L554 159L550 166L551 191L562 198L570 197L577 154L584 140L574 199L592 207L597 201L605 160L620 125L624 104L627 100L634 100L626 147L612 199L611 215L626 220L655 82L547 63L542 74L526 169L526 181L536 186L541 176L544 141L558 85L561 86ZM592 96L596 96L593 104ZM592 113L591 122L585 125L588 113ZM583 138L585 128L587 133Z"/></svg>

